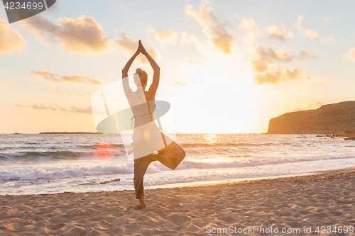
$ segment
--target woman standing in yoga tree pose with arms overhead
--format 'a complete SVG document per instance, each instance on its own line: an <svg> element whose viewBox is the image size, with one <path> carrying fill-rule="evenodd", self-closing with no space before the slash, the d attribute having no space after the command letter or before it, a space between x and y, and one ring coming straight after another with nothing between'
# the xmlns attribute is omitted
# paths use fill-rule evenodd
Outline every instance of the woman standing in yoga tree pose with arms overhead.
<svg viewBox="0 0 355 236"><path fill-rule="evenodd" d="M154 70L153 82L148 91L146 91L148 74L140 68L136 69L136 73L133 75L137 90L132 91L129 86L129 67L131 67L131 64L139 53L146 56ZM159 77L160 67L158 67L158 64L156 64L151 55L143 47L141 40L139 40L136 52L126 63L124 69L122 69L122 85L124 86L124 94L129 101L133 113L133 181L136 198L139 199L141 208L147 208L143 193L143 176L146 174L148 165L158 160L166 167L175 169L185 157L185 151L176 142L161 133L153 119L155 93L158 89Z"/></svg>

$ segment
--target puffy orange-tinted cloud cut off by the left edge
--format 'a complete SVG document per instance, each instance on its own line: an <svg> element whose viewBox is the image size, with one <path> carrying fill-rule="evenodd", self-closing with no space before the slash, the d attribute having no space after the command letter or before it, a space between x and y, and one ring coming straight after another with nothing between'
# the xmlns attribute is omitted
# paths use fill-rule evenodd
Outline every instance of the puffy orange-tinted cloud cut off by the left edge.
<svg viewBox="0 0 355 236"><path fill-rule="evenodd" d="M26 39L12 30L4 18L0 18L0 35L0 55L11 54L16 50L21 52L27 44Z"/></svg>

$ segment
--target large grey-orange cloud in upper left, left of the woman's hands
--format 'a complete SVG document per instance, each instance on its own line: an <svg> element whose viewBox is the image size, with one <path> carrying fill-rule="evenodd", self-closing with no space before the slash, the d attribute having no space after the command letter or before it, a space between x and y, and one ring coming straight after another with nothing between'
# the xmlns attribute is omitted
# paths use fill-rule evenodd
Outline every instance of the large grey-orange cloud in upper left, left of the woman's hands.
<svg viewBox="0 0 355 236"><path fill-rule="evenodd" d="M111 49L109 38L103 33L104 29L89 16L58 18L57 23L52 23L45 16L37 15L23 21L27 24L21 26L35 34L39 40L47 38L50 43L59 40L67 52L94 55Z"/></svg>

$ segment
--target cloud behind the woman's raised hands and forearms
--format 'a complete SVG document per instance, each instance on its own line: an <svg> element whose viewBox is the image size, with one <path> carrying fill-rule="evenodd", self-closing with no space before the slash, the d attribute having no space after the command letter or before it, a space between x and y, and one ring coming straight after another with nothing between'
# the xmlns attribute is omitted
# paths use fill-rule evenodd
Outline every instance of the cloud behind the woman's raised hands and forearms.
<svg viewBox="0 0 355 236"><path fill-rule="evenodd" d="M115 38L114 42L116 43L116 45L119 45L119 47L121 47L121 49L123 49L129 55L133 55L134 52L136 52L137 47L138 47L138 40L133 40L133 39L129 38L128 35L126 35L122 32L120 33L119 37ZM154 60L157 60L158 52L156 50L153 50L153 48L151 46L145 45L144 43L143 43L143 46L146 48L149 55L151 55L151 57L153 57ZM141 62L142 64L148 63L148 60L143 55L138 56L137 60L138 60L138 62Z"/></svg>

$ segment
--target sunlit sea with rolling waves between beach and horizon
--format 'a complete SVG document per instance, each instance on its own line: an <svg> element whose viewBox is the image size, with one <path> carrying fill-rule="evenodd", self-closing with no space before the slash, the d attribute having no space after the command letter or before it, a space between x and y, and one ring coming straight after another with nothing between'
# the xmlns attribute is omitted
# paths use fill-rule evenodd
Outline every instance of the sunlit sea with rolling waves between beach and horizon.
<svg viewBox="0 0 355 236"><path fill-rule="evenodd" d="M288 176L355 167L355 141L270 134L178 134L173 171L152 162L145 189ZM0 135L0 194L133 190L121 135Z"/></svg>

